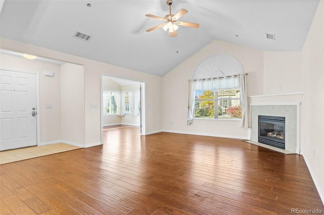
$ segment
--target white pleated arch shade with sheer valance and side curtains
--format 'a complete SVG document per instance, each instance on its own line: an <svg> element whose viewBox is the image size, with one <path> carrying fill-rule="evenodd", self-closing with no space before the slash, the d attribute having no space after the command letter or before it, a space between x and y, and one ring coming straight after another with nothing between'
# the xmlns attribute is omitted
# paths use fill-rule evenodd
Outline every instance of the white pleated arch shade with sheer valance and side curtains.
<svg viewBox="0 0 324 215"><path fill-rule="evenodd" d="M196 90L207 90L207 88L217 90L234 87L240 88L239 107L241 108L241 127L249 128L249 105L246 92L246 75L244 74L244 70L239 61L225 53L217 53L209 56L196 66L192 79L189 80L187 124L192 124ZM216 113L215 118L218 118L218 111L215 106L217 108L217 105L214 105L215 110L212 113ZM202 113L206 114L206 112L207 111ZM220 112L220 114L222 114L222 112Z"/></svg>

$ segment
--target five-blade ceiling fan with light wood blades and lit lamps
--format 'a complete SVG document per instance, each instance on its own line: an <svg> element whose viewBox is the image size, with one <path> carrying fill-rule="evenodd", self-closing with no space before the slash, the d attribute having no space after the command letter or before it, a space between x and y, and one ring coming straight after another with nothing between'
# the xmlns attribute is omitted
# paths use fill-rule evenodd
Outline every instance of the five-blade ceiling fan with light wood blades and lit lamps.
<svg viewBox="0 0 324 215"><path fill-rule="evenodd" d="M187 27L191 27L191 28L198 28L199 24L196 23L191 23L191 22L181 22L181 21L177 21L180 17L182 17L183 15L185 15L186 13L188 13L187 10L185 9L181 9L180 11L178 11L175 15L171 14L171 5L172 5L173 1L172 0L168 0L167 1L167 5L169 5L170 7L170 14L166 15L164 18L162 17L157 17L151 14L146 14L145 16L147 17L151 17L154 19L158 19L158 20L162 20L165 21L166 23L154 26L150 29L147 29L147 32L150 32L156 28L162 27L163 30L167 31L169 30L169 35L172 37L177 36L177 29L179 28L178 25L182 25L182 26L187 26Z"/></svg>

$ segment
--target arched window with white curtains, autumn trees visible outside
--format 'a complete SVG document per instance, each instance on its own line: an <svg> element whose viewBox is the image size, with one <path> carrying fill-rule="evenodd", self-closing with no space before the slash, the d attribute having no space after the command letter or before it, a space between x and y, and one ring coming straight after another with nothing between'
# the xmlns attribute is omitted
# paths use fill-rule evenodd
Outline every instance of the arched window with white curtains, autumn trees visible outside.
<svg viewBox="0 0 324 215"><path fill-rule="evenodd" d="M205 58L189 80L188 98L188 124L193 118L241 119L245 122L248 108L241 64L225 53Z"/></svg>

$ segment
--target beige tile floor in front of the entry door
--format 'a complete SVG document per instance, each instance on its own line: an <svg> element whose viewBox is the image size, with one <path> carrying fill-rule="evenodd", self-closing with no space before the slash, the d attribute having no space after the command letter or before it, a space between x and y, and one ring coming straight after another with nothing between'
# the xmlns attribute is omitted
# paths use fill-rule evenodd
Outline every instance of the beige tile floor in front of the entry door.
<svg viewBox="0 0 324 215"><path fill-rule="evenodd" d="M81 147L69 145L65 143L55 143L42 146L31 146L25 148L11 149L6 151L0 151L0 165L17 162L19 160L25 160L49 154L55 154L64 151L70 151Z"/></svg>

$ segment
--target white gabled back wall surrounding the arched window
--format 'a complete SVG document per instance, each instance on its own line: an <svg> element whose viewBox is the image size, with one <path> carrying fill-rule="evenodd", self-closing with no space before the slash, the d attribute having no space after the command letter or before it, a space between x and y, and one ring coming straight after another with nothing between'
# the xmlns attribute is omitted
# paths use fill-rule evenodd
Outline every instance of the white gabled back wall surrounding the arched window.
<svg viewBox="0 0 324 215"><path fill-rule="evenodd" d="M248 73L248 95L263 92L263 52L236 44L213 40L189 59L163 77L163 130L169 132L248 139L248 129L240 128L240 121L194 119L187 125L188 83L195 67L215 53L235 57Z"/></svg>

